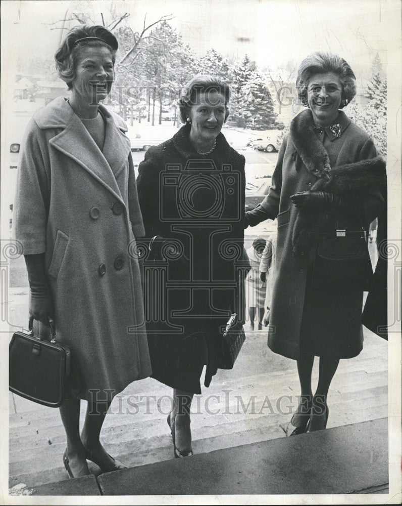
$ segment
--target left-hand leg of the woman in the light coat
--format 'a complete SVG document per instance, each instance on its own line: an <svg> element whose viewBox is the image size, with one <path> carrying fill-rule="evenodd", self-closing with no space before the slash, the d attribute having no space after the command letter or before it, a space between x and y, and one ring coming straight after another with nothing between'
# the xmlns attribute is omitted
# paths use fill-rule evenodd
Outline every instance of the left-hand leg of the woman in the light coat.
<svg viewBox="0 0 402 506"><path fill-rule="evenodd" d="M80 399L66 399L59 409L67 436L68 466L74 478L88 475L85 449L80 439Z"/></svg>

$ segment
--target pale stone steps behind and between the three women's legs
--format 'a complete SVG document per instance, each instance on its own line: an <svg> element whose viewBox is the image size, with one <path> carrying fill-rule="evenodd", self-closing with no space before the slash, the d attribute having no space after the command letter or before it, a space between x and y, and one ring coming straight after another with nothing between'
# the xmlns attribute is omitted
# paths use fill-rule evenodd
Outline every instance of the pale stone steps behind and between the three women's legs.
<svg viewBox="0 0 402 506"><path fill-rule="evenodd" d="M25 291L24 291L25 290ZM25 321L27 290L10 291L10 319ZM11 337L11 334L10 334ZM295 362L272 353L266 331L246 331L233 370L219 370L211 387L192 405L194 454L254 444L290 434L297 405ZM341 360L329 392L328 428L387 416L387 342L365 331L365 347L355 359ZM318 363L313 370L317 381ZM117 396L106 417L101 440L127 466L173 458L166 416L171 391L151 378L131 384ZM84 412L86 403L82 403ZM66 437L59 410L10 394L9 486L33 487L65 480ZM387 447L386 439L383 442ZM99 473L91 464L91 471Z"/></svg>

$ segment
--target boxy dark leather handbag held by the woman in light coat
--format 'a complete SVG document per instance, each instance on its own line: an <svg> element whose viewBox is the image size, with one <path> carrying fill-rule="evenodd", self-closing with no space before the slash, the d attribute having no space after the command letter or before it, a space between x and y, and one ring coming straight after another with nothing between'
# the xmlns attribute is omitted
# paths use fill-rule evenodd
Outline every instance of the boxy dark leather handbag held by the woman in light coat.
<svg viewBox="0 0 402 506"><path fill-rule="evenodd" d="M51 339L35 337L33 318L28 332L14 332L9 347L9 390L44 406L59 407L69 396L70 349L56 342L55 324L49 321Z"/></svg>

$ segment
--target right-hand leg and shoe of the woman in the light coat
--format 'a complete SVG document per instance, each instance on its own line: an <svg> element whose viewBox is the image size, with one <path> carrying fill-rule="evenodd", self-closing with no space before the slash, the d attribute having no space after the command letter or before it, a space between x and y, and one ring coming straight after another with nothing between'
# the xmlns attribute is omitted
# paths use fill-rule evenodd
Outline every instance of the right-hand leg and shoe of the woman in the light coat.
<svg viewBox="0 0 402 506"><path fill-rule="evenodd" d="M124 469L121 462L115 460L107 453L99 441L100 431L108 412L110 402L88 402L81 441L86 450L86 458L92 460L102 471L115 471Z"/></svg>

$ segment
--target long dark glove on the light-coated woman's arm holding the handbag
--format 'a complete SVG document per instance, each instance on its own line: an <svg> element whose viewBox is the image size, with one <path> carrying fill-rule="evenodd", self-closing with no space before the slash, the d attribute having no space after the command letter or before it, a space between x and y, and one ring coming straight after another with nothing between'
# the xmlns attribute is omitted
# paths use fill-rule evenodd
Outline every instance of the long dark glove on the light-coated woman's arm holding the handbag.
<svg viewBox="0 0 402 506"><path fill-rule="evenodd" d="M31 291L29 316L48 325L49 318L53 319L53 302L44 268L44 253L24 255L24 258Z"/></svg>

